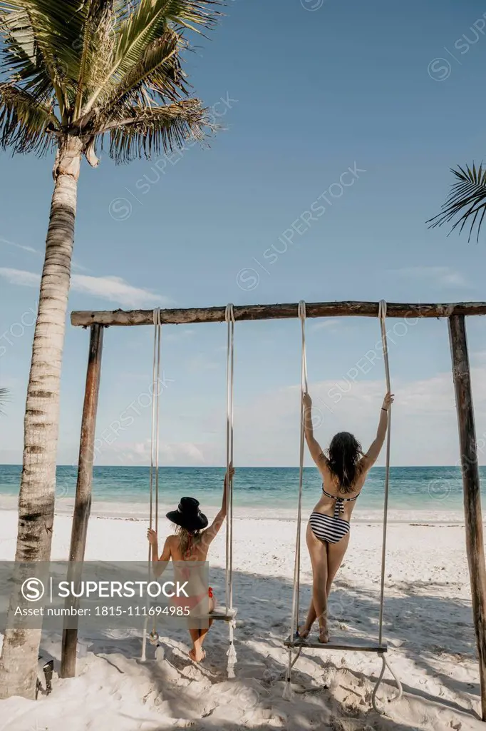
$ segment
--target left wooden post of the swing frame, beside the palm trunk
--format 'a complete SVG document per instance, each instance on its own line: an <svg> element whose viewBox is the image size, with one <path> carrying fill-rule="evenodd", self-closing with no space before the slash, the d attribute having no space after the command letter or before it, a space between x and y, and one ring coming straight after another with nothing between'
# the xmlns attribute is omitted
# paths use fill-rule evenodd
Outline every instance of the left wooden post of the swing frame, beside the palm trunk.
<svg viewBox="0 0 486 731"><path fill-rule="evenodd" d="M88 534L88 520L91 509L103 329L102 325L91 325L90 327L90 352L86 373L85 403L82 409L80 458L77 468L71 548L69 549L69 561L76 561L78 565L81 565L85 558L86 535ZM70 618L70 621L72 623L73 618ZM77 629L66 629L65 627L63 629L61 654L61 678L74 678L74 675L76 675L76 653Z"/></svg>

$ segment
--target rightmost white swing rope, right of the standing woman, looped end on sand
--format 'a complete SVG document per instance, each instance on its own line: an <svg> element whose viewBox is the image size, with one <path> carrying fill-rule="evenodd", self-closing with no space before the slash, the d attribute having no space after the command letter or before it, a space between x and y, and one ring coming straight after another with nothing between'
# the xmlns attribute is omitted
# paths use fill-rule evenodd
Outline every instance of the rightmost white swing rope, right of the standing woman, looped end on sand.
<svg viewBox="0 0 486 731"><path fill-rule="evenodd" d="M379 317L379 323L382 330L382 348L383 348L383 358L385 360L385 378L387 383L387 392L390 392L391 390L391 384L390 384L390 363L388 360L388 343L387 343L387 325L386 325L386 317L387 317L387 303L385 300L380 300L379 302L379 308L378 308L378 317ZM384 507L383 507L383 539L382 539L382 571L381 571L381 577L380 577L380 586L379 586L379 620L378 620L378 644L382 644L382 637L383 637L383 606L385 602L385 568L386 568L386 550L387 550L387 522L388 522L388 492L389 492L389 485L390 485L390 437L391 437L391 404L388 406L388 425L387 425L387 450L386 450L386 467L385 467L385 500L384 500ZM379 674L379 678L377 680L377 684L374 686L373 693L371 694L371 703L373 705L374 711L377 711L377 713L383 713L382 709L377 706L377 700L379 702L379 699L377 699L377 692L379 689L379 686L382 683L383 676L385 675L385 670L388 668L391 675L393 675L393 678L396 681L398 692L388 700L388 702L396 702L401 699L401 696L403 694L403 689L401 686L401 682L398 680L395 673L393 673L393 670L391 669L390 665L387 662L387 659L385 657L384 652L379 652L379 656L382 659L382 670Z"/></svg>

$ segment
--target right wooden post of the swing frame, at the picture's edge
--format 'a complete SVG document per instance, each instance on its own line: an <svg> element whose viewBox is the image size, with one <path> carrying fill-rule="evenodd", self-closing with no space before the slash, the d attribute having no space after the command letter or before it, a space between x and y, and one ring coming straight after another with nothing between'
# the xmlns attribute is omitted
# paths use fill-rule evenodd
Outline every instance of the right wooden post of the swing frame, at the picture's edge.
<svg viewBox="0 0 486 731"><path fill-rule="evenodd" d="M474 631L479 656L482 720L486 721L486 565L482 531L481 492L476 428L464 315L449 318L452 374L458 412L460 462L463 473L466 550L471 580Z"/></svg>

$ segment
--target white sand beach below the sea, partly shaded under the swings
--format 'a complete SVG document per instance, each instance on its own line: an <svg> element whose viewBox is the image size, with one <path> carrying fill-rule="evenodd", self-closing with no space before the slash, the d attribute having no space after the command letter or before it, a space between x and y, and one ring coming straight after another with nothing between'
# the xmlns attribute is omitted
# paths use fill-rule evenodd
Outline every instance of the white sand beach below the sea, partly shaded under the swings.
<svg viewBox="0 0 486 731"><path fill-rule="evenodd" d="M96 511L95 511L96 515ZM1 731L328 731L479 730L479 675L472 626L464 528L457 516L436 513L390 523L385 639L388 659L404 686L385 715L371 708L381 662L374 654L306 650L293 673L293 699L284 700L295 523L234 520L234 586L238 607L236 678L226 675L227 629L215 623L207 659L188 659L181 629L162 637L163 653L138 660L139 637L97 637L78 660L77 678L58 678L60 637L42 643L55 659L53 693L37 702L0 702ZM163 528L165 528L165 523ZM167 527L168 524L167 524ZM147 523L123 518L90 521L88 560L143 560ZM382 526L355 522L350 549L331 596L331 634L377 637ZM0 558L15 553L16 514L0 511ZM56 515L53 558L65 559L70 520ZM224 596L224 531L210 553L211 583ZM302 562L301 605L311 573ZM303 610L304 611L304 610ZM301 615L303 614L301 612ZM162 657L163 654L163 657ZM386 676L387 677L387 676ZM388 681L382 697L393 695Z"/></svg>

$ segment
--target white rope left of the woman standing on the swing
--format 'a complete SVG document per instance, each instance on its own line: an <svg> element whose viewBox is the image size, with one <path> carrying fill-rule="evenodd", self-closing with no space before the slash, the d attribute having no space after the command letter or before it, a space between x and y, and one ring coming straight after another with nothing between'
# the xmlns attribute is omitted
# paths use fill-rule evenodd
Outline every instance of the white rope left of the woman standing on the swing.
<svg viewBox="0 0 486 731"><path fill-rule="evenodd" d="M306 303L301 300L298 303L298 318L301 321L301 433L300 433L300 455L299 455L299 471L298 471L298 509L297 509L297 535L296 535L296 560L293 568L293 595L292 595L292 622L290 625L290 640L294 640L297 632L298 610L299 610L299 594L301 582L301 522L302 522L302 487L304 482L304 444L305 444L305 428L304 428L304 393L307 393L307 358L306 358ZM292 697L292 688L290 679L292 668L296 664L302 648L298 648L295 658L292 659L292 648L288 648L288 670L284 688L284 697Z"/></svg>

